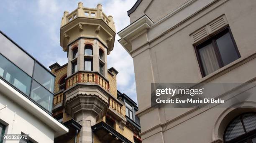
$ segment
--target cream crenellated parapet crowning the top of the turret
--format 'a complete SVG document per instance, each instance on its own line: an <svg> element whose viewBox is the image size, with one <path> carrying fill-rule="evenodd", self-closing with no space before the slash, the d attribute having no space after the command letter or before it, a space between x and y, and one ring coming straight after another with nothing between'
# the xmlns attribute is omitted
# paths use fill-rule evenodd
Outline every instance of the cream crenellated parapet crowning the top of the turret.
<svg viewBox="0 0 256 143"><path fill-rule="evenodd" d="M73 12L64 12L64 16L61 20L61 27L68 24L77 17L89 17L95 19L102 19L112 30L115 31L115 25L113 22L113 17L111 15L107 16L102 12L102 5L98 4L96 8L83 7L82 2L78 3L78 8Z"/></svg>

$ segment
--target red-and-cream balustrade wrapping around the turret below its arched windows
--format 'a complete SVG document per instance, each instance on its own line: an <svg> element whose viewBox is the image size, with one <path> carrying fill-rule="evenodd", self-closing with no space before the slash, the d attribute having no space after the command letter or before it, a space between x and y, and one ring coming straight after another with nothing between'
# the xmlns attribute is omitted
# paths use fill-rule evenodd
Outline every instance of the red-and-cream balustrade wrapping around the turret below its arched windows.
<svg viewBox="0 0 256 143"><path fill-rule="evenodd" d="M66 89L78 83L98 84L106 91L109 91L109 82L104 76L93 71L78 71L66 79Z"/></svg>

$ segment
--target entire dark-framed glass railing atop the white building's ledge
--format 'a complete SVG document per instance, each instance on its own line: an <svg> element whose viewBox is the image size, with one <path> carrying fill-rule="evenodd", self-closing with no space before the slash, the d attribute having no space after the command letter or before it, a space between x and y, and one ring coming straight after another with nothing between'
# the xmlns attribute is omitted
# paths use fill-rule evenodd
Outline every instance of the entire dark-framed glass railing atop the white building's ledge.
<svg viewBox="0 0 256 143"><path fill-rule="evenodd" d="M51 113L54 75L0 31L0 78Z"/></svg>

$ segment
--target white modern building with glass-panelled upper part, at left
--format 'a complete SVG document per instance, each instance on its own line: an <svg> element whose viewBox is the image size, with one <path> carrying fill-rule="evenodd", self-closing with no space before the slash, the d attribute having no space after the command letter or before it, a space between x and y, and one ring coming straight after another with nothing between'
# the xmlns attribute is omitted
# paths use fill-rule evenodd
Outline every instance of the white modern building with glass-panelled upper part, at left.
<svg viewBox="0 0 256 143"><path fill-rule="evenodd" d="M52 117L55 76L1 31L0 43L0 143L54 143L69 131Z"/></svg>

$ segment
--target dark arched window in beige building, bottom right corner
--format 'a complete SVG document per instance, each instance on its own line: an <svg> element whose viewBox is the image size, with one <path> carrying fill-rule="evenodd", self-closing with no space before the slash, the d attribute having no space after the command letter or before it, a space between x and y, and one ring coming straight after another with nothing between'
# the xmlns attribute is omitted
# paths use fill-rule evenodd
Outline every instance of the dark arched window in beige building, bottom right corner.
<svg viewBox="0 0 256 143"><path fill-rule="evenodd" d="M223 138L225 143L256 143L256 113L244 113L234 118Z"/></svg>

